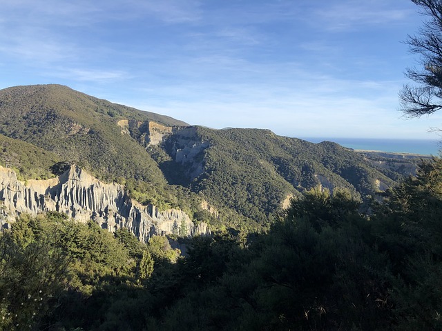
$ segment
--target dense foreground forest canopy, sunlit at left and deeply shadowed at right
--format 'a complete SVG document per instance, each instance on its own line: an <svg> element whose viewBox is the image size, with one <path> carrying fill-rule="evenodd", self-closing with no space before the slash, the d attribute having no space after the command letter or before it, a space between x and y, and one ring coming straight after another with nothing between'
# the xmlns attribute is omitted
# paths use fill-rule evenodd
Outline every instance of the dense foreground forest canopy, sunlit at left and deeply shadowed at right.
<svg viewBox="0 0 442 331"><path fill-rule="evenodd" d="M442 160L373 201L313 188L269 232L144 245L23 216L0 237L3 330L439 330ZM22 328L26 325L26 329Z"/></svg>

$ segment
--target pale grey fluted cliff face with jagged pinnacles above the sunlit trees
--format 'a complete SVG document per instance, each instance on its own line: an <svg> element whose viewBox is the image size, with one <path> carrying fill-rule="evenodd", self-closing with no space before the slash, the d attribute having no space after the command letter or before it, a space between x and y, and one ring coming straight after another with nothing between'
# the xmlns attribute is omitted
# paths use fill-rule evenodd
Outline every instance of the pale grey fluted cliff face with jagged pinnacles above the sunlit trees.
<svg viewBox="0 0 442 331"><path fill-rule="evenodd" d="M60 177L48 180L17 180L11 169L0 166L1 225L15 221L19 214L57 211L76 221L93 219L111 232L127 228L142 242L186 225L188 235L209 234L206 223L198 226L182 210L158 210L130 199L122 185L102 183L73 165Z"/></svg>

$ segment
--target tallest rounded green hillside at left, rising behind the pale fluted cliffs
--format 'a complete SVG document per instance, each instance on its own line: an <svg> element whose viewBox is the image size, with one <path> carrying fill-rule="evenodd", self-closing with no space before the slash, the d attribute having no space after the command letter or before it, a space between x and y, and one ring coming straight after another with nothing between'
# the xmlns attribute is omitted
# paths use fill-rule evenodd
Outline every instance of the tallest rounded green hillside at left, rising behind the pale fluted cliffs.
<svg viewBox="0 0 442 331"><path fill-rule="evenodd" d="M1 134L78 163L99 178L134 177L153 183L164 183L161 171L142 146L122 134L118 119L186 124L58 85L1 90L0 116Z"/></svg>

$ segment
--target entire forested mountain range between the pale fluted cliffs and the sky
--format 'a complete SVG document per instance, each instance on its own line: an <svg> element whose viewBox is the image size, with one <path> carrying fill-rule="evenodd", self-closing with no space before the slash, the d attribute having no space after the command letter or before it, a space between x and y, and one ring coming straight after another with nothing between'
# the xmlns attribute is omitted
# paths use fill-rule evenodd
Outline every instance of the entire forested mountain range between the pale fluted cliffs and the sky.
<svg viewBox="0 0 442 331"><path fill-rule="evenodd" d="M19 178L53 177L75 163L140 203L182 208L213 228L267 228L290 197L316 185L365 199L403 178L336 143L189 126L58 85L1 90L0 134L1 163Z"/></svg>

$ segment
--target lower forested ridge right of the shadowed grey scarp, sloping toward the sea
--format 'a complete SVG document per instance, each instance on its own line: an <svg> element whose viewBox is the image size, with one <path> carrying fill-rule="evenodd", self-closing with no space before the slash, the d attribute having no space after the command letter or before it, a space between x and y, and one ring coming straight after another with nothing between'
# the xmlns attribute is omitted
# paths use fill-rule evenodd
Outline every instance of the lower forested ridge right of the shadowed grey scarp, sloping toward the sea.
<svg viewBox="0 0 442 331"><path fill-rule="evenodd" d="M287 197L316 185L347 188L361 199L377 192L379 183L391 186L402 178L336 143L309 143L269 130L186 128L164 141L163 148L172 160L177 159L177 150L189 154L182 163L164 161L166 177L187 175L189 188L202 192L218 208L228 206L259 222L268 221ZM198 152L193 158L192 150ZM198 166L202 172L190 176Z"/></svg>

